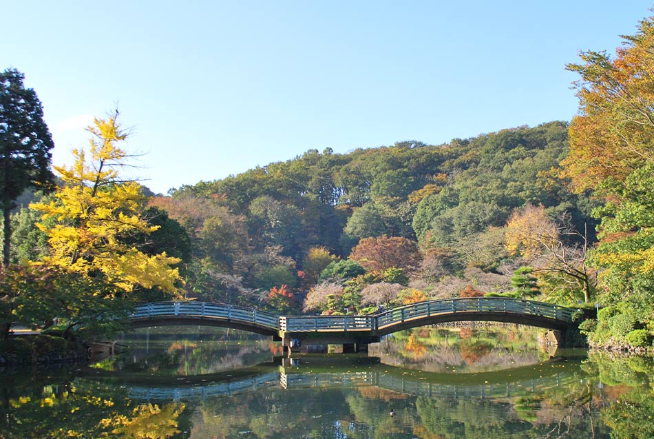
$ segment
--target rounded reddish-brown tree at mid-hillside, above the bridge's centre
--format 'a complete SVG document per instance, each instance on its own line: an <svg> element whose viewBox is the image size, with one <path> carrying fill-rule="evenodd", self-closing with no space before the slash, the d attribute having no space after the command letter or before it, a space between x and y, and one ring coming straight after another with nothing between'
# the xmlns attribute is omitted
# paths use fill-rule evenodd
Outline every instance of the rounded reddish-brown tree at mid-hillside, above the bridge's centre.
<svg viewBox="0 0 654 439"><path fill-rule="evenodd" d="M363 238L352 249L350 259L367 270L385 270L392 267L409 271L420 260L418 247L413 241L399 236Z"/></svg>

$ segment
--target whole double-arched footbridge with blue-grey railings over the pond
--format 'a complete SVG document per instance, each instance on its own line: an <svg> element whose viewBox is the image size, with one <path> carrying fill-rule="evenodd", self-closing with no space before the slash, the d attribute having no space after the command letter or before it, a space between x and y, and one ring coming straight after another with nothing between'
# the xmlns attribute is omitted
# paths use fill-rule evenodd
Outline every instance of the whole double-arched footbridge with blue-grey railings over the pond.
<svg viewBox="0 0 654 439"><path fill-rule="evenodd" d="M503 297L425 300L363 316L277 316L255 308L207 302L156 302L138 305L131 327L205 325L273 336L284 347L342 344L365 350L382 336L403 329L457 321L517 323L565 331L574 309Z"/></svg>

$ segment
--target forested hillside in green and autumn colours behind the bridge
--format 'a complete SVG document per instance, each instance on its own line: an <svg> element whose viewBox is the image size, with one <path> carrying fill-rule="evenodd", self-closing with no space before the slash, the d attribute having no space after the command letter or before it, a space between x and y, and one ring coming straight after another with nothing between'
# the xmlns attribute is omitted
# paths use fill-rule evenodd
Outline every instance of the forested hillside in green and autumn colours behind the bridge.
<svg viewBox="0 0 654 439"><path fill-rule="evenodd" d="M559 176L566 154L564 122L443 145L405 141L347 154L308 150L180 187L150 205L189 234L187 294L205 300L263 299L291 311L311 292L315 304L306 309L342 312L379 305L366 289L379 283L396 285L386 301L402 293L452 296L466 288L514 294L515 269L530 263L536 272L550 270L553 261L542 252L527 261L517 247L509 254L505 226L512 212L531 207L540 212L532 222L579 232L556 234L571 248L591 221L589 199L569 192ZM395 254L388 256L390 249ZM330 263L359 270L321 276ZM355 280L346 283L348 278ZM563 285L553 276L547 282L544 292L557 292L558 299L583 299L580 285ZM349 306L335 300L344 293L354 294Z"/></svg>

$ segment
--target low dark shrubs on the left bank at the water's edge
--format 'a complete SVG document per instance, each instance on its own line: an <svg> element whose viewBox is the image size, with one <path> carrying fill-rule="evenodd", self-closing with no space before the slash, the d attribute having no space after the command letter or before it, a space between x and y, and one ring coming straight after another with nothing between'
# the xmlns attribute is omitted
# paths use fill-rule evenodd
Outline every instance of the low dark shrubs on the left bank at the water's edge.
<svg viewBox="0 0 654 439"><path fill-rule="evenodd" d="M0 369L26 365L86 363L88 359L87 346L61 337L39 334L0 340Z"/></svg>

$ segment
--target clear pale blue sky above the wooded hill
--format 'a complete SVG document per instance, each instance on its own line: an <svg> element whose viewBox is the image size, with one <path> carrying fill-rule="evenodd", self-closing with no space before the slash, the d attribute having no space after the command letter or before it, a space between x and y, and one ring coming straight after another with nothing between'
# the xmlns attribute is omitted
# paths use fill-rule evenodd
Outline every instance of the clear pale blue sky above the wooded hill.
<svg viewBox="0 0 654 439"><path fill-rule="evenodd" d="M456 4L455 4L456 3ZM7 1L0 69L43 102L54 163L119 103L155 192L310 148L440 144L569 121L565 64L650 1Z"/></svg>

